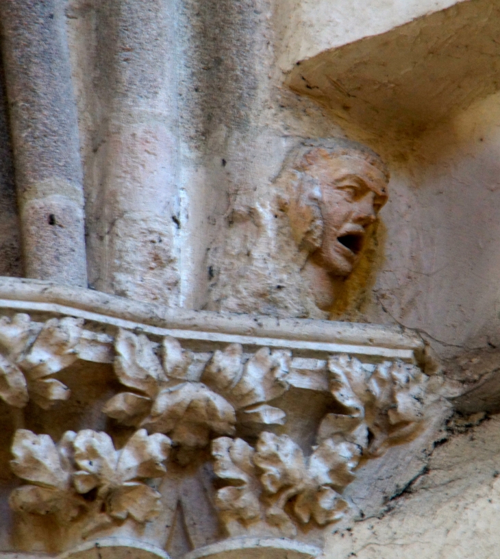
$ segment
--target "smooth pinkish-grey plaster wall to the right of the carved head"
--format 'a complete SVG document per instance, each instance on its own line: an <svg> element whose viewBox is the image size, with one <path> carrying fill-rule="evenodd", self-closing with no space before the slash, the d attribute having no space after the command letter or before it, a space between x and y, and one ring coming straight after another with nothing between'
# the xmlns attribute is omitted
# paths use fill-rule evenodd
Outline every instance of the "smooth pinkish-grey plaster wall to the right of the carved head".
<svg viewBox="0 0 500 559"><path fill-rule="evenodd" d="M444 353L499 345L499 117L497 94L427 132L406 162L391 164L385 259L374 288L383 312L365 316L381 321L386 313L429 334Z"/></svg>

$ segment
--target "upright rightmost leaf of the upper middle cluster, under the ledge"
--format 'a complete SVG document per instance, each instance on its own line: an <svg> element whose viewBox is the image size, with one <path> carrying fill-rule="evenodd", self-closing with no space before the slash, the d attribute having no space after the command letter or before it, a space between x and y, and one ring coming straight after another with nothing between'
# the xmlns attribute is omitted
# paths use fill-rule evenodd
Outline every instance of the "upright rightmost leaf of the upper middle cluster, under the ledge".
<svg viewBox="0 0 500 559"><path fill-rule="evenodd" d="M281 396L288 390L290 358L290 351L259 349L245 363L240 380L227 394L229 401L240 409Z"/></svg>

